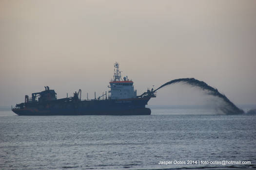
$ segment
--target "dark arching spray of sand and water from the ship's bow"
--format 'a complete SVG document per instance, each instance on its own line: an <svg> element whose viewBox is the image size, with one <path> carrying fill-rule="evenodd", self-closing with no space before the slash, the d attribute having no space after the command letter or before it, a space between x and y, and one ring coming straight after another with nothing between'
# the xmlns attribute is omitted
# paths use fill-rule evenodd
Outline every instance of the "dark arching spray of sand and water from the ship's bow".
<svg viewBox="0 0 256 170"><path fill-rule="evenodd" d="M156 90L154 90L154 92L166 85L172 85L172 84L176 84L176 83L185 83L185 84L188 84L191 86L197 86L201 90L206 91L207 94L216 96L219 99L222 99L221 102L223 102L223 105L219 109L225 114L232 115L232 114L243 114L244 113L244 111L242 109L239 109L238 107L236 107L236 105L233 102L231 102L224 94L219 93L217 88L207 85L205 82L199 81L195 78L182 78L182 79L171 80L170 82L167 82L167 83L161 85L160 87L158 87Z"/></svg>

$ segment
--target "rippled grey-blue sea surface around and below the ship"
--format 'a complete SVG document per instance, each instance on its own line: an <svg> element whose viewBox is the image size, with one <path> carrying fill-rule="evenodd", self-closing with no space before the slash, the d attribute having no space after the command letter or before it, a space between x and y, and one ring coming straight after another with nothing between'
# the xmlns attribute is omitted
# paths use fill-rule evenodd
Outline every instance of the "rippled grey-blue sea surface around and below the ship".
<svg viewBox="0 0 256 170"><path fill-rule="evenodd" d="M213 114L161 106L150 116L32 117L0 111L0 169L256 169L256 116Z"/></svg>

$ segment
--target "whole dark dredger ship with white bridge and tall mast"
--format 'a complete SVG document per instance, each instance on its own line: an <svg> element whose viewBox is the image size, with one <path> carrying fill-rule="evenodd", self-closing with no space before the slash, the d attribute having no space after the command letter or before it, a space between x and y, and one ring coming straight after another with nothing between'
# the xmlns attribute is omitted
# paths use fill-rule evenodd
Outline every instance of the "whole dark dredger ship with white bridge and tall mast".
<svg viewBox="0 0 256 170"><path fill-rule="evenodd" d="M44 86L45 90L32 93L32 97L25 95L25 102L16 104L12 111L17 115L50 116L50 115L150 115L146 108L148 101L155 98L153 88L137 96L133 81L128 77L121 78L119 64L114 64L114 79L109 82L110 90L95 99L81 100L81 90L73 97L57 99L55 90Z"/></svg>

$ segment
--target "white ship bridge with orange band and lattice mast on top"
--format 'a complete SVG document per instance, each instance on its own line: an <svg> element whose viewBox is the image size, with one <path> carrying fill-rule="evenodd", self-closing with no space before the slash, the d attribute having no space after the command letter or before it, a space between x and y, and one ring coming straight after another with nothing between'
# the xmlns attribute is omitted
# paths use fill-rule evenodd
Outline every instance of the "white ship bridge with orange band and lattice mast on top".
<svg viewBox="0 0 256 170"><path fill-rule="evenodd" d="M137 90L134 90L133 81L129 80L128 77L121 78L121 71L119 71L119 64L114 64L114 80L109 82L111 93L111 99L130 99L137 97Z"/></svg>

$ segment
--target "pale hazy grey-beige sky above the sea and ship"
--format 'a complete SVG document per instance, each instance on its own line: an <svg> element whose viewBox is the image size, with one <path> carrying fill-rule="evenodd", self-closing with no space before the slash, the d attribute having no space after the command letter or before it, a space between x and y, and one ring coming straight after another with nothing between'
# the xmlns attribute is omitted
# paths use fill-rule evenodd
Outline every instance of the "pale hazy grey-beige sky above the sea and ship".
<svg viewBox="0 0 256 170"><path fill-rule="evenodd" d="M256 104L256 0L0 0L0 106L49 85L58 98L107 90L118 61L138 94L194 77ZM149 104L201 104L173 85Z"/></svg>

